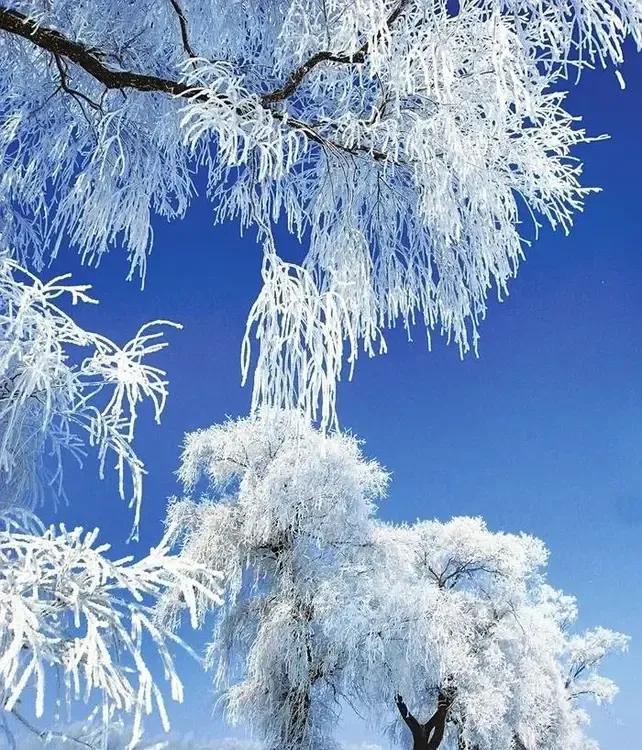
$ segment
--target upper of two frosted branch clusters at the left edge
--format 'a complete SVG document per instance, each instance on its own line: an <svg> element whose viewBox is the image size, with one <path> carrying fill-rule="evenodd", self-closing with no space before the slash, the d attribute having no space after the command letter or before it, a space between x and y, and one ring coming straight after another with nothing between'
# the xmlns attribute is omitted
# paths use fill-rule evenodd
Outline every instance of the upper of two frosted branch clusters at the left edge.
<svg viewBox="0 0 642 750"><path fill-rule="evenodd" d="M0 255L0 509L34 508L47 492L64 495L63 459L81 461L95 447L102 476L113 460L125 497L131 478L134 531L138 526L144 465L133 449L140 402L165 406L165 372L146 359L162 350L164 326L142 326L120 347L79 326L59 306L95 303L88 285L68 276L42 282Z"/></svg>

